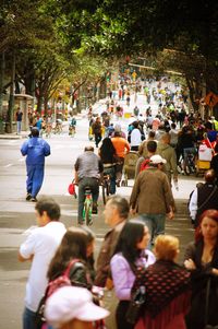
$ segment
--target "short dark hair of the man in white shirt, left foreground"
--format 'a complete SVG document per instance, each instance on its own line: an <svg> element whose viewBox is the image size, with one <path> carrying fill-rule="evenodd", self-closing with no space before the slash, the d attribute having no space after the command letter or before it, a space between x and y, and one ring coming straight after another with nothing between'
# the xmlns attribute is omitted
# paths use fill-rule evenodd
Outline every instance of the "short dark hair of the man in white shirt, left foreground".
<svg viewBox="0 0 218 329"><path fill-rule="evenodd" d="M51 221L59 221L61 216L60 205L52 198L40 198L36 203L35 210L38 211L39 215L43 215L44 211L46 211Z"/></svg>

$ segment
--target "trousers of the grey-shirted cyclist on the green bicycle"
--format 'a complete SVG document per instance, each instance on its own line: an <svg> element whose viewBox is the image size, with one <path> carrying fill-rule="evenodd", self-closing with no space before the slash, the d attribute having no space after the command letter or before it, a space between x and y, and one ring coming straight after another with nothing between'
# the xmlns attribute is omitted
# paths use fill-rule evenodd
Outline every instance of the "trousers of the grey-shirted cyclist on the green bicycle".
<svg viewBox="0 0 218 329"><path fill-rule="evenodd" d="M93 195L93 202L98 201L99 196L99 181L97 178L84 177L78 181L78 221L83 219L83 207L85 201L85 188L89 187Z"/></svg>

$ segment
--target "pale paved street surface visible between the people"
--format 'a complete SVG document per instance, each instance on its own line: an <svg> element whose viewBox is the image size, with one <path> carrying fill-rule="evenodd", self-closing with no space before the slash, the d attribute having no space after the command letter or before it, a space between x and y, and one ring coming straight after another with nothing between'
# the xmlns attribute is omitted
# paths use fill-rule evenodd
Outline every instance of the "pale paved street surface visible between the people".
<svg viewBox="0 0 218 329"><path fill-rule="evenodd" d="M126 124L122 121L122 125ZM60 203L62 221L66 226L76 224L77 201L68 195L68 185L73 178L73 164L76 156L83 152L84 145L89 144L87 131L88 121L82 116L77 120L77 132L73 139L65 131L48 140L51 155L46 160L45 180L40 195L51 196ZM17 248L25 239L28 230L35 225L35 204L25 201L25 158L20 153L23 141L24 139L0 140L0 329L21 328L29 265L19 263ZM193 237L192 226L186 218L186 199L195 184L195 178L182 176L179 191L173 188L178 213L174 221L167 222L167 232L180 237L181 256L185 245ZM133 181L130 181L129 187L121 187L118 192L129 197ZM97 238L97 254L107 231L101 199L99 214L94 216L93 230Z"/></svg>

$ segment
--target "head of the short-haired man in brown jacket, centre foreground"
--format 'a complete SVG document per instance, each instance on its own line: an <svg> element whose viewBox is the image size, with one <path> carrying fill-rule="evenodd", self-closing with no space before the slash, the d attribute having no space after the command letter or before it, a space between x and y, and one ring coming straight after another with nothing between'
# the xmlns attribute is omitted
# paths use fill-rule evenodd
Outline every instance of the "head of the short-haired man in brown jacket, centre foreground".
<svg viewBox="0 0 218 329"><path fill-rule="evenodd" d="M128 219L130 205L125 198L112 196L108 199L104 210L105 222L111 227Z"/></svg>

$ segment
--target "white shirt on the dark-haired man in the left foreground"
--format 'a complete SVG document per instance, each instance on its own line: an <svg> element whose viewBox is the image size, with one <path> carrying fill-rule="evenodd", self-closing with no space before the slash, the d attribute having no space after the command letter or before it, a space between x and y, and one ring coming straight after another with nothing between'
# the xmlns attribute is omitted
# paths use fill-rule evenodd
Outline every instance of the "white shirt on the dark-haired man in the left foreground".
<svg viewBox="0 0 218 329"><path fill-rule="evenodd" d="M25 306L33 312L37 310L45 293L48 267L64 233L65 226L62 223L51 221L46 226L35 228L20 247L23 258L34 255L25 296Z"/></svg>

